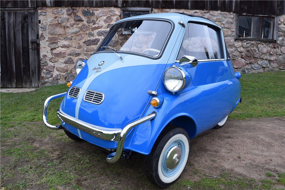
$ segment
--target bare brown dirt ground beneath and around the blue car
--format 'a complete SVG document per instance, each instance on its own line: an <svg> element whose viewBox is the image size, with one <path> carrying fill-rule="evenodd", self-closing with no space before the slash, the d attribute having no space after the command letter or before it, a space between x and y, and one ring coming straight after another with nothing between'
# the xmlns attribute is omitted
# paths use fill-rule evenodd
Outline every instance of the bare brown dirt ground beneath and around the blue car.
<svg viewBox="0 0 285 190"><path fill-rule="evenodd" d="M29 125L40 125L44 128L42 122L34 122ZM19 128L14 130L19 130L19 134L24 134L25 131L23 129L20 131ZM38 160L42 164L42 174L37 174L37 179L32 179L27 189L50 189L47 183L36 183L36 181L42 179L44 172L48 171L48 163L60 160L60 162L68 165L72 163L70 160L72 160L74 153L88 158L92 168L92 171L90 168L72 171L78 175L73 183L78 184L82 189L159 189L151 185L144 176L143 155L137 154L133 156L132 160L119 160L112 165L105 161L106 154L100 152L96 146L88 142L74 142L66 138L65 135L60 137L63 140L58 140L56 134L58 133L50 133L45 138L37 138L36 135L30 137L27 135L21 137L20 135L8 140L5 144L1 143L1 152L9 149L9 143L23 140L29 141L32 146L36 146L36 150L42 148L48 150L50 156ZM204 174L220 177L222 173L232 173L259 181L267 177L265 175L267 171L271 173L285 172L284 140L284 118L228 120L223 128L208 130L190 140L188 164L178 181L183 179L199 180ZM8 166L12 157L2 155L1 167ZM76 159L74 158L75 162L73 162L75 164L79 162L78 158ZM11 166L11 169L16 171L14 177L1 177L1 187L27 178L27 174L21 174L17 171L18 164L24 167L30 165L32 160L25 162L24 158L19 158L14 162L15 164ZM64 167L72 168L72 166L66 165ZM57 167L56 169L60 168ZM192 175L194 170L201 175ZM97 175L97 173L99 174ZM2 174L5 175L5 172ZM275 179L277 178L275 175ZM115 186L108 185L110 183L115 184ZM56 186L56 189L69 189L70 186L71 183L66 183ZM285 187L276 183L274 188L283 189ZM173 189L173 187L169 187L169 189Z"/></svg>

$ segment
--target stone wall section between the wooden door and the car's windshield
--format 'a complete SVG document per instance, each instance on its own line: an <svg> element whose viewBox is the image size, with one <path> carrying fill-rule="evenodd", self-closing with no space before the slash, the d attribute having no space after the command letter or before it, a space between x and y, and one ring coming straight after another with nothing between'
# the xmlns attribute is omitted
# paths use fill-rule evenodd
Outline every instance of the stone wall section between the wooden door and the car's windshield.
<svg viewBox="0 0 285 190"><path fill-rule="evenodd" d="M116 7L41 7L42 86L73 80L76 61L91 56L120 15Z"/></svg>

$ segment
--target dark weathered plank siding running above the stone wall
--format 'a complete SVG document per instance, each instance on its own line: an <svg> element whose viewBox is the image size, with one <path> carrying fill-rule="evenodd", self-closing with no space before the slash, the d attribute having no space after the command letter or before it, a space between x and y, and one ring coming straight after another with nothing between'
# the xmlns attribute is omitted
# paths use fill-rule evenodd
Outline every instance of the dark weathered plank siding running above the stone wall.
<svg viewBox="0 0 285 190"><path fill-rule="evenodd" d="M247 14L284 15L285 1L229 1L229 0L1 0L1 8L29 8L29 7L145 7L161 9L198 9ZM93 5L94 4L94 5Z"/></svg>

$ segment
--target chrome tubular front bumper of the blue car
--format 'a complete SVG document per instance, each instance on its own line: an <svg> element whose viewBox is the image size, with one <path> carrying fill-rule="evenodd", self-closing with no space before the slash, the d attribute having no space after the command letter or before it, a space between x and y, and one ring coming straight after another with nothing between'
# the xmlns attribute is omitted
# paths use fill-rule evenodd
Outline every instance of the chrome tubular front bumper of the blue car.
<svg viewBox="0 0 285 190"><path fill-rule="evenodd" d="M51 125L47 122L47 111L48 111L48 103L55 98L59 98L62 96L65 96L66 92L64 93L60 93L60 94L56 94L53 95L51 97L48 97L48 99L46 99L46 101L44 102L44 111L42 114L42 119L44 121L44 124L46 125L46 127L51 128L51 129L63 129L62 125L59 126L55 126L55 125ZM109 163L115 163L117 162L122 155L123 152L123 148L124 148L124 143L125 143L125 139L126 136L128 134L128 132L134 128L135 126L142 124L146 121L149 120L153 120L156 117L156 112L152 112L151 114L135 120L129 124L127 124L123 130L121 129L108 129L108 128L103 128L103 127L99 127L99 126L95 126L92 124L88 124L84 121L78 120L74 117L71 117L65 113L62 112L62 110L60 109L59 111L57 111L57 116L60 120L62 120L63 122L78 128L88 134L91 134L97 138L103 139L103 140L109 140L109 141L118 141L118 146L117 146L117 151L113 152L111 154L109 154L106 158L107 162Z"/></svg>

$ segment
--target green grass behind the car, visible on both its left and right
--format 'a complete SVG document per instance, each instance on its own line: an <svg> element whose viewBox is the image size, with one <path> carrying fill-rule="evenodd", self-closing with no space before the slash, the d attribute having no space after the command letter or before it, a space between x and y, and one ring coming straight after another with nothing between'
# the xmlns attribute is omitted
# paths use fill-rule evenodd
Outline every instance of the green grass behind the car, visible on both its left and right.
<svg viewBox="0 0 285 190"><path fill-rule="evenodd" d="M229 115L229 119L285 115L285 72L242 74L240 82L242 102ZM66 84L62 84L28 93L1 93L1 127L11 128L14 126L12 122L42 120L46 98L67 90ZM56 110L62 99L54 99L49 104L48 121L51 124L59 124Z"/></svg>

